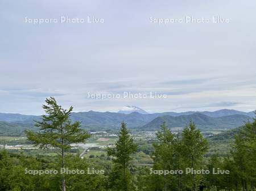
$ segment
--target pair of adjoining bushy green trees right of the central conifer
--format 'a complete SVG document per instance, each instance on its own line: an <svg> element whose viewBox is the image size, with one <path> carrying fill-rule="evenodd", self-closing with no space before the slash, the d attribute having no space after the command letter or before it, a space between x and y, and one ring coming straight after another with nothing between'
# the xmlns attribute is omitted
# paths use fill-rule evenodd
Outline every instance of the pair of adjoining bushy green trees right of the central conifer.
<svg viewBox="0 0 256 191"><path fill-rule="evenodd" d="M156 133L158 141L153 144L153 170L181 170L185 168L200 169L203 167L203 155L208 150L208 142L196 129L195 124L189 123L182 134L174 135L163 123L161 130ZM150 180L145 190L197 190L202 181L201 176L175 173L171 175L155 175L146 177Z"/></svg>

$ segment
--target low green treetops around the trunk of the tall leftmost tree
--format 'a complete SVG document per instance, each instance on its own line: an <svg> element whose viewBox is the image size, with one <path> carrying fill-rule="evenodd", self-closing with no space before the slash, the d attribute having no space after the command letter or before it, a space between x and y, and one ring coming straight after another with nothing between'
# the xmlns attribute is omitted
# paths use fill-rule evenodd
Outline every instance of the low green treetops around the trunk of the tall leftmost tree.
<svg viewBox="0 0 256 191"><path fill-rule="evenodd" d="M102 163L94 163L79 159L75 155L67 155L65 165L68 169L82 169L84 174L66 175L67 190L105 190L105 175L88 175L88 168L105 169ZM0 190L56 191L60 190L61 175L31 175L28 170L60 171L61 163L52 163L23 155L11 155L7 151L0 152Z"/></svg>

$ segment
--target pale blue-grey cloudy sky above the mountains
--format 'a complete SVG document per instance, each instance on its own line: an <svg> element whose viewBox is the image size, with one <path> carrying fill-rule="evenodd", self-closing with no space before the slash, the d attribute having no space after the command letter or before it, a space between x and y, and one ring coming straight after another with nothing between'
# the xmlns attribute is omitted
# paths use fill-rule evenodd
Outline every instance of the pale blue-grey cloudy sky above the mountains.
<svg viewBox="0 0 256 191"><path fill-rule="evenodd" d="M0 112L42 114L49 96L75 112L253 111L255 8L254 0L1 1Z"/></svg>

